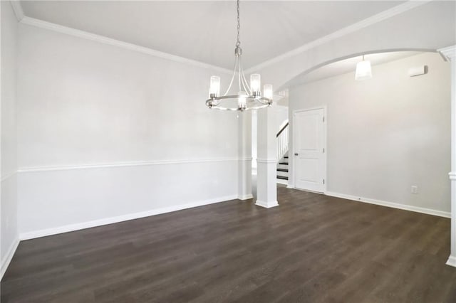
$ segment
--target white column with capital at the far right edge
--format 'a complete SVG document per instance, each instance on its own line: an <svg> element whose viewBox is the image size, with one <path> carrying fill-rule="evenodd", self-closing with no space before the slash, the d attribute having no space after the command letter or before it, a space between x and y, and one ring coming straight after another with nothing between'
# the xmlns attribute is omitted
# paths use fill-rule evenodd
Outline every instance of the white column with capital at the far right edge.
<svg viewBox="0 0 456 303"><path fill-rule="evenodd" d="M439 50L451 64L451 252L447 265L456 267L456 46Z"/></svg>

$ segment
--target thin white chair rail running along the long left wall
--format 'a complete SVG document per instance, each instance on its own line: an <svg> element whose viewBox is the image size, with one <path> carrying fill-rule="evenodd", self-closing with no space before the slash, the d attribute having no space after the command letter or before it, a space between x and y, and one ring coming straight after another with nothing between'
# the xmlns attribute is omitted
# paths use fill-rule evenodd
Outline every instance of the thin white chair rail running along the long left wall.
<svg viewBox="0 0 456 303"><path fill-rule="evenodd" d="M192 164L206 162L224 162L239 161L238 158L221 158L221 159L180 159L180 160L160 160L160 161L138 161L138 162L119 162L107 164L86 164L74 166L29 166L17 170L18 173L33 173L43 171L67 171L72 169L104 169L123 166L150 166L150 165L167 165L167 164Z"/></svg>

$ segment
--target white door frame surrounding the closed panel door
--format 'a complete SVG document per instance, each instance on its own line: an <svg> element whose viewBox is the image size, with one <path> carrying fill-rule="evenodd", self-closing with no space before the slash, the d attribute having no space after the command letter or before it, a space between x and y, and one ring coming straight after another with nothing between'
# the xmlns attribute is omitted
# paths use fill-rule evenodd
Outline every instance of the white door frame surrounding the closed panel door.
<svg viewBox="0 0 456 303"><path fill-rule="evenodd" d="M291 151L291 153L289 152L289 154L291 154L291 156L293 156L293 161L292 161L292 175L293 175L293 187L296 188L296 189L301 189L301 188L297 188L296 187L296 163L294 161L294 153L296 152L296 145L295 143L297 142L296 141L296 136L297 136L297 127L296 127L296 114L299 114L300 112L310 112L312 110L323 110L323 117L324 117L324 122L323 122L323 148L325 149L325 152L324 152L324 155L323 155L323 159L324 159L324 167L323 167L323 174L324 174L324 180L325 180L325 183L323 184L323 193L326 194L326 191L327 191L327 186L328 186L328 140L327 140L327 137L328 137L328 129L326 127L327 123L328 123L328 111L327 111L327 106L326 105L321 105L321 106L318 106L318 107L309 107L309 108L304 108L304 109L300 109L300 110L294 110L293 111L293 135L292 135L292 138L293 138L293 151ZM318 192L319 193L319 192Z"/></svg>

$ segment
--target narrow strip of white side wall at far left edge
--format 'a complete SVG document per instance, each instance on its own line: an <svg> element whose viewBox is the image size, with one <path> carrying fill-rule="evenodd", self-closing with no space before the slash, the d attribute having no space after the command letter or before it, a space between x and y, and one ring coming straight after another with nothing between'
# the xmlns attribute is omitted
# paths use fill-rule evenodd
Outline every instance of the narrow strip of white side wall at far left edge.
<svg viewBox="0 0 456 303"><path fill-rule="evenodd" d="M1 240L0 278L18 243L16 199L16 37L9 1L1 1Z"/></svg>

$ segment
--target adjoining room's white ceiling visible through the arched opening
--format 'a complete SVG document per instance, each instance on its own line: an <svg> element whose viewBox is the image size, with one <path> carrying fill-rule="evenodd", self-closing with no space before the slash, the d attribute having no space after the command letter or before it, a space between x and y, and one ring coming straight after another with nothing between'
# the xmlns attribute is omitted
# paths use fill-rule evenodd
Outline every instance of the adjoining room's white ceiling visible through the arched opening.
<svg viewBox="0 0 456 303"><path fill-rule="evenodd" d="M365 60L371 61L371 65L379 65L383 63L388 63L394 60L399 60L402 58L410 57L412 55L418 55L421 52L418 51L398 51L390 53L372 53L365 55ZM305 73L299 75L288 83L287 86L292 87L296 85L301 85L304 83L309 83L312 81L317 81L321 79L326 79L334 77L336 75L343 75L346 73L353 73L353 78L355 77L356 63L363 60L362 56L356 56L353 58L348 58L345 60L340 60L334 63L323 65L321 68L312 70L310 73Z"/></svg>

